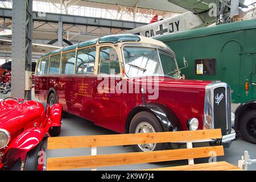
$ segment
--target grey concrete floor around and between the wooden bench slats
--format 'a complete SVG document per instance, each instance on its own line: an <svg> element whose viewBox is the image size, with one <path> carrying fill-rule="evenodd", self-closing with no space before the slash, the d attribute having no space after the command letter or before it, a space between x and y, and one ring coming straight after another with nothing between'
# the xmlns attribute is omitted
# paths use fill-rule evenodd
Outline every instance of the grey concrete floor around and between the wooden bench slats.
<svg viewBox="0 0 256 182"><path fill-rule="evenodd" d="M76 117L75 115L68 114L67 118L63 119L63 125L61 127L60 136L79 136L79 135L106 135L106 134L117 134L113 131L104 129L99 126L93 125L93 123L86 121L85 119ZM251 144L243 140L237 140L232 143L230 148L225 148L225 156L217 157L218 161L226 161L237 166L238 160L241 159L243 151L249 151L251 159L256 159L256 144ZM101 147L98 148L98 154L114 154L122 152L133 152L131 146L123 147ZM79 155L90 155L89 148L78 148L68 150L49 150L47 151L47 158L52 157L64 157L64 156L79 156ZM207 163L208 159L196 159L195 163ZM150 164L135 164L128 166L118 167L104 167L98 170L137 170L157 167L170 167L186 165L187 160L175 161L175 162L163 162L163 163L150 163ZM88 169L80 169L88 170ZM249 166L249 170L256 170L256 164Z"/></svg>

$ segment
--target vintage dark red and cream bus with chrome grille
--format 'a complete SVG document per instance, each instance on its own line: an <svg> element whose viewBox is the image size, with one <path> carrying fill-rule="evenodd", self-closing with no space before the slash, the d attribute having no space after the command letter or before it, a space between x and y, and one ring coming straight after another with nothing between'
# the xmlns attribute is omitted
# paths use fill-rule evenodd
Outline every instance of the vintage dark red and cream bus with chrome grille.
<svg viewBox="0 0 256 182"><path fill-rule="evenodd" d="M220 128L225 141L210 142L224 146L236 135L227 84L181 79L166 44L133 34L104 36L42 56L35 97L50 106L59 102L65 112L118 133Z"/></svg>

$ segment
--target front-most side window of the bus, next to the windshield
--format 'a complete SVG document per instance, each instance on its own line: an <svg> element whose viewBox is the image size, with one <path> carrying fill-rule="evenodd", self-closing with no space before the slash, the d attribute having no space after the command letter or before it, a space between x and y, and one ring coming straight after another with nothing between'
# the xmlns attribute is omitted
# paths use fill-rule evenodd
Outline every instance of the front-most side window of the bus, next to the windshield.
<svg viewBox="0 0 256 182"><path fill-rule="evenodd" d="M100 49L100 65L98 73L108 75L120 74L120 64L115 48L103 47Z"/></svg>

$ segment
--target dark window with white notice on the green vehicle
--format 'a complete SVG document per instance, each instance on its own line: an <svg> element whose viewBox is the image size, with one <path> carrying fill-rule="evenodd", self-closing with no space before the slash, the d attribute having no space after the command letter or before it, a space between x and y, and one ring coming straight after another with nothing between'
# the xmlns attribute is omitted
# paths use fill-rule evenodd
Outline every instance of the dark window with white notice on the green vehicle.
<svg viewBox="0 0 256 182"><path fill-rule="evenodd" d="M196 75L215 75L216 59L197 59L195 60Z"/></svg>

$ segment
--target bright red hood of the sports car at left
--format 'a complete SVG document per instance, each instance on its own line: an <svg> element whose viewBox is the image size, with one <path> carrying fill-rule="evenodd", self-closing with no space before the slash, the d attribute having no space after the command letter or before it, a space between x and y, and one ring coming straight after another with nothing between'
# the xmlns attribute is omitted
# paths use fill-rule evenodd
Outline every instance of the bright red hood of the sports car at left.
<svg viewBox="0 0 256 182"><path fill-rule="evenodd" d="M20 104L14 100L0 102L0 129L5 129L10 133L15 132L36 118L44 107L40 102L27 101Z"/></svg>

